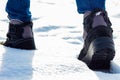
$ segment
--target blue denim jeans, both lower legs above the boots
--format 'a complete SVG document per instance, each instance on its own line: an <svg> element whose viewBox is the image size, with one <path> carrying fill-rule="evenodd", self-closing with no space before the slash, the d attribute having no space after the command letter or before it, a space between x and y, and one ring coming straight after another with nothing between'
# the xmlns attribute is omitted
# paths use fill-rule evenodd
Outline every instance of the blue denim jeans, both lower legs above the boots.
<svg viewBox="0 0 120 80"><path fill-rule="evenodd" d="M91 11L94 8L105 9L105 0L76 0L79 13ZM21 21L30 21L30 0L8 0L6 12L10 19L19 19Z"/></svg>

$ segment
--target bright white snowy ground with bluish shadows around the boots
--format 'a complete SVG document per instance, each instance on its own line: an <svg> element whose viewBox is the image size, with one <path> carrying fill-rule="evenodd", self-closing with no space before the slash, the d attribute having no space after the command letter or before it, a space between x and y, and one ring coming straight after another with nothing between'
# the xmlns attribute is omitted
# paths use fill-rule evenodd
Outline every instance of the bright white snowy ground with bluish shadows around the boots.
<svg viewBox="0 0 120 80"><path fill-rule="evenodd" d="M7 0L0 1L0 41L6 39ZM120 80L120 1L107 0L116 56L111 73L93 72L77 60L82 48L82 16L74 0L31 0L37 50L0 46L0 80Z"/></svg>

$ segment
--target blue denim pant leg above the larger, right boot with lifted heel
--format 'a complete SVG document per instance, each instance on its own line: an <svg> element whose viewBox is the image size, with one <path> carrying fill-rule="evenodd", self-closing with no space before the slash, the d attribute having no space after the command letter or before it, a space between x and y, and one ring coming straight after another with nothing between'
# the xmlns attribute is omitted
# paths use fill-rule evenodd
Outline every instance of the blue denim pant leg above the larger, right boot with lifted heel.
<svg viewBox="0 0 120 80"><path fill-rule="evenodd" d="M95 8L105 9L105 0L76 0L78 13L92 11Z"/></svg>

